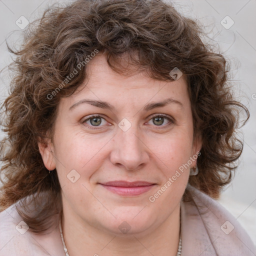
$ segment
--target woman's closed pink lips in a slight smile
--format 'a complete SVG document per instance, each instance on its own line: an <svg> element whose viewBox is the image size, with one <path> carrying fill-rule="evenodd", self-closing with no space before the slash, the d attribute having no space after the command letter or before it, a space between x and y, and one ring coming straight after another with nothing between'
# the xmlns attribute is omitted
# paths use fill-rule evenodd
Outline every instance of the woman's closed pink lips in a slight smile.
<svg viewBox="0 0 256 256"><path fill-rule="evenodd" d="M139 195L149 191L155 183L147 182L147 181L133 181L128 182L124 180L115 180L115 181L108 181L105 183L99 183L107 190L119 194L119 195Z"/></svg>

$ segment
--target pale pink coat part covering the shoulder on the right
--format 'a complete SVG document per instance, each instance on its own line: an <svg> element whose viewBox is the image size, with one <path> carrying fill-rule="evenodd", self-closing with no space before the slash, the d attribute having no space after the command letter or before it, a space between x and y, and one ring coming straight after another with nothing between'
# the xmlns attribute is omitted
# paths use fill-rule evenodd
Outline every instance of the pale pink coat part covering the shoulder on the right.
<svg viewBox="0 0 256 256"><path fill-rule="evenodd" d="M255 245L231 213L198 189L188 185L187 191L191 200L181 203L181 233L194 253L187 255L256 255Z"/></svg>

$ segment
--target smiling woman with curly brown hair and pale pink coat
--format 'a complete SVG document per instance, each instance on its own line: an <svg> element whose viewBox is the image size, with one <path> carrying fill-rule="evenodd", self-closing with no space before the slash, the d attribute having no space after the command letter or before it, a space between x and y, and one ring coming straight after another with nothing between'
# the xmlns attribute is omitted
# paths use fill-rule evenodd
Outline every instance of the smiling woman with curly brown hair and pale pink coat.
<svg viewBox="0 0 256 256"><path fill-rule="evenodd" d="M214 200L248 112L196 23L77 0L30 26L3 104L0 255L255 255Z"/></svg>

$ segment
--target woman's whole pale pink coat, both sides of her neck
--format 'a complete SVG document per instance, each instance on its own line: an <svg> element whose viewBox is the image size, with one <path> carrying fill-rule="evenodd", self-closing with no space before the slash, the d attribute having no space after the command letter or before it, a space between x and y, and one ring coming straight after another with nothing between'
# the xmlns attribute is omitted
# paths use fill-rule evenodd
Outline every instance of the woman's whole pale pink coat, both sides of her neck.
<svg viewBox="0 0 256 256"><path fill-rule="evenodd" d="M180 202L182 256L255 256L256 249L239 222L216 200L188 185L191 200ZM0 212L0 256L65 256L58 225L34 234L17 225L15 204ZM22 224L22 222L21 222Z"/></svg>

